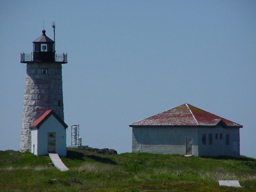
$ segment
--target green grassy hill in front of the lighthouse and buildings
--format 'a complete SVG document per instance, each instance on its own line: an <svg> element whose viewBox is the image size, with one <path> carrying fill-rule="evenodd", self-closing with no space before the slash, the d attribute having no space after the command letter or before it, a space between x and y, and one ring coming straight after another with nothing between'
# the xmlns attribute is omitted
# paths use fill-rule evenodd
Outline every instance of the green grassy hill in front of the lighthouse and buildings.
<svg viewBox="0 0 256 192"><path fill-rule="evenodd" d="M0 191L256 191L256 159L70 149L60 172L48 156L0 151ZM238 180L243 187L223 187Z"/></svg>

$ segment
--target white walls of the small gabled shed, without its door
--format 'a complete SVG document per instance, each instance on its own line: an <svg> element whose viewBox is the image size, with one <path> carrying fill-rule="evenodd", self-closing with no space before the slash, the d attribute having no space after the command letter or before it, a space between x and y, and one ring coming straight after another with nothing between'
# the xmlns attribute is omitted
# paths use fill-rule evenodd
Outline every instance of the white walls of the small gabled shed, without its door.
<svg viewBox="0 0 256 192"><path fill-rule="evenodd" d="M33 131L32 131L33 132ZM51 115L46 121L39 127L37 130L37 154L35 155L46 155L47 151L47 133L55 132L56 133L56 153L60 156L67 155L67 145L66 145L66 129L64 129L63 125L53 116ZM34 137L36 134L34 134ZM36 140L31 134L31 140ZM31 150L33 150L33 143L31 143ZM36 145L35 145L36 146Z"/></svg>

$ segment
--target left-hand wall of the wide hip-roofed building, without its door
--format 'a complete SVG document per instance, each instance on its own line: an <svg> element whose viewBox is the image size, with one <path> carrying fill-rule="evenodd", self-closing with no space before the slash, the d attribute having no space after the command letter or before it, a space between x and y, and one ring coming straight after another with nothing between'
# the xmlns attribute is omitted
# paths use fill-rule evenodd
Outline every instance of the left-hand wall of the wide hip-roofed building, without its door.
<svg viewBox="0 0 256 192"><path fill-rule="evenodd" d="M192 139L192 154L198 156L198 134L195 128L134 127L132 129L132 151L186 154L186 138Z"/></svg>

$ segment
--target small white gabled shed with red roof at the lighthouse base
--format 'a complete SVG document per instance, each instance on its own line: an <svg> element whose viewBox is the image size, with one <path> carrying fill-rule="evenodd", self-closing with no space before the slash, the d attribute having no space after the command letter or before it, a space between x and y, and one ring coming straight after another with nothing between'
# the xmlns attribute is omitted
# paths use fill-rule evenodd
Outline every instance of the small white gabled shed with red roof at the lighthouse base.
<svg viewBox="0 0 256 192"><path fill-rule="evenodd" d="M46 155L49 152L66 156L66 129L68 125L54 113L47 110L33 124L31 130L31 153Z"/></svg>

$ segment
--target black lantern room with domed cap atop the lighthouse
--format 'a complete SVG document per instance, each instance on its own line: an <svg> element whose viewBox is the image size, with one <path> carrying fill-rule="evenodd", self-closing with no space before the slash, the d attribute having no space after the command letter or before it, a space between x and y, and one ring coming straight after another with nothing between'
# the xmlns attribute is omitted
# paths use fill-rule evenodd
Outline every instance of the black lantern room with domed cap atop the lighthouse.
<svg viewBox="0 0 256 192"><path fill-rule="evenodd" d="M33 60L54 62L54 41L45 35L42 30L42 36L33 41Z"/></svg>

